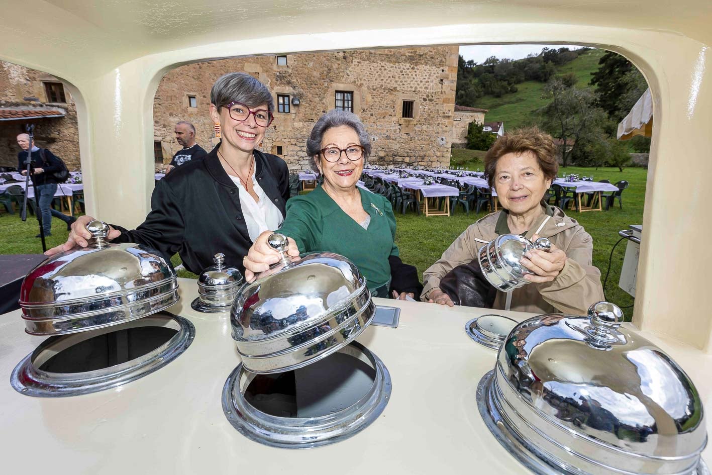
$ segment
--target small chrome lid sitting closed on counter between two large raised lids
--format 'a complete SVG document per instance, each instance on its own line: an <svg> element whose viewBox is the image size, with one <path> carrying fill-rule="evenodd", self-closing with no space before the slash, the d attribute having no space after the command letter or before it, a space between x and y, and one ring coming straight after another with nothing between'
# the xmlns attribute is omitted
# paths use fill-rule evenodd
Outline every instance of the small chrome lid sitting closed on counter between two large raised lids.
<svg viewBox="0 0 712 475"><path fill-rule="evenodd" d="M214 265L200 274L198 297L191 303L199 312L229 310L244 280L238 269L225 265L225 254L215 254L213 261Z"/></svg>

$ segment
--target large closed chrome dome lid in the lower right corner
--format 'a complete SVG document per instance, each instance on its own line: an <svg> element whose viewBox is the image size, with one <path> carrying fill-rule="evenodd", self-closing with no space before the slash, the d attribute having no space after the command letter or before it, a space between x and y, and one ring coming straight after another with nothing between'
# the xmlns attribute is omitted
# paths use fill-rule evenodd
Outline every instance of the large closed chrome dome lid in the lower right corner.
<svg viewBox="0 0 712 475"><path fill-rule="evenodd" d="M674 360L619 328L598 302L587 317L517 325L480 383L488 427L530 469L564 474L703 473L702 402Z"/></svg>

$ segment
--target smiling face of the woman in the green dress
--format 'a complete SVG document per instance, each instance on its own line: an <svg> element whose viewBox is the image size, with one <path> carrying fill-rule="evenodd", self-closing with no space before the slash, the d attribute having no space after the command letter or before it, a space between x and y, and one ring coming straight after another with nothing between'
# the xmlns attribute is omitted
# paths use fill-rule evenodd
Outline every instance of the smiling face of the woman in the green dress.
<svg viewBox="0 0 712 475"><path fill-rule="evenodd" d="M322 149L337 147L343 150L349 145L361 145L361 142L356 131L348 125L328 129L321 139ZM363 170L363 161L363 157L359 160L349 160L346 152L342 152L339 160L333 163L328 162L322 154L316 160L325 184L343 190L353 189L356 186Z"/></svg>

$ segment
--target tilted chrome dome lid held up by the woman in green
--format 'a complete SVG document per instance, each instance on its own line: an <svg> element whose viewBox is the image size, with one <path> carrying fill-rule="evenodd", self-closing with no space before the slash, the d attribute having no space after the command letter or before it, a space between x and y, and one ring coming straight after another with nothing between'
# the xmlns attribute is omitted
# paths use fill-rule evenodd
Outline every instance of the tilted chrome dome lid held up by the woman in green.
<svg viewBox="0 0 712 475"><path fill-rule="evenodd" d="M287 239L269 243L281 262L243 286L230 311L232 336L246 370L273 373L320 360L354 340L375 315L366 279L329 252L289 259Z"/></svg>

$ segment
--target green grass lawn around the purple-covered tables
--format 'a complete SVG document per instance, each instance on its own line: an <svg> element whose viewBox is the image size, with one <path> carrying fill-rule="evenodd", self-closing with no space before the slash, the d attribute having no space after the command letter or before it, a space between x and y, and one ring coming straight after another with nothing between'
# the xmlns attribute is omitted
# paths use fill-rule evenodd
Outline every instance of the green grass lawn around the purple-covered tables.
<svg viewBox="0 0 712 475"><path fill-rule="evenodd" d="M476 169L482 167L479 161L484 152L476 150L454 150L453 165ZM617 168L577 168L567 167L562 172L579 173L590 175L594 179L609 179L611 182L625 179L630 182L630 187L623 192L623 209L618 205L607 212L569 212L572 218L582 224L593 236L594 250L593 263L600 268L601 273L606 272L608 258L612 246L619 239L618 231L627 229L629 224L642 224L643 202L645 195L645 182L647 170L642 168L626 168L619 172ZM467 226L484 216L486 212L481 212L478 216L470 213L466 216L462 207L454 212L453 216L417 216L413 212L407 214L396 214L397 235L396 241L400 248L401 257L404 262L417 266L419 273L428 268L434 261L439 259L443 251L454 239L461 234ZM35 238L38 233L37 220L30 215L26 222L22 222L19 214L0 214L0 229L2 229L2 239L0 240L0 254L39 254L42 252L40 239ZM57 246L66 241L68 232L66 224L59 219L52 220L52 236L47 239L48 246ZM610 276L606 286L606 296L609 301L617 303L622 307L630 306L633 299L618 287L620 268L625 254L625 244L623 241L614 252ZM174 256L174 265L180 263L180 258ZM187 271L179 271L179 276L195 278L194 274ZM632 310L624 310L627 318L632 315Z"/></svg>

